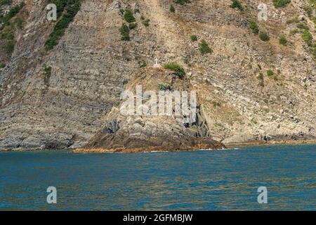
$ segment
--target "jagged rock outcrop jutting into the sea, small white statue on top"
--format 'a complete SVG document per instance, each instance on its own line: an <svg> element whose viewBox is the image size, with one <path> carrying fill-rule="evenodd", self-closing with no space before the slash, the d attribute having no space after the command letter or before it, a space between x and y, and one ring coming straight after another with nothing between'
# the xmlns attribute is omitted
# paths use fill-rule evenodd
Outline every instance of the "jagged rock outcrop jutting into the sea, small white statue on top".
<svg viewBox="0 0 316 225"><path fill-rule="evenodd" d="M172 73L172 72L171 72ZM142 93L133 96L132 106L136 106L136 98L142 98L143 105L150 101L151 96L147 99L146 91L154 91L154 95L159 95L157 89L158 84L170 83L170 91L163 92L164 101L166 96L173 97L172 115L159 115L159 99L155 101L156 104L149 105L143 110L142 115L125 115L124 105L119 108L114 107L107 115L105 127L101 129L91 141L84 146L74 150L75 153L80 152L138 152L144 150L195 150L195 149L222 149L225 146L218 141L213 141L209 135L209 128L206 120L200 110L199 105L195 105L195 110L192 110L190 99L188 99L187 116L175 115L175 108L178 107L183 110L183 103L175 101L173 95L174 90L188 91L190 95L190 82L188 79L179 79L175 75L164 71L162 69L147 68L140 70L140 75L136 75L133 81L126 85L126 90L133 92L136 86L142 87ZM189 85L188 85L189 84ZM136 91L134 91L136 92ZM154 98L156 98L155 96ZM164 112L166 112L166 102L163 104ZM157 115L152 115L152 108L157 106ZM136 107L129 108L129 114L136 113ZM191 111L190 111L191 110ZM192 120L189 119L195 113ZM164 113L162 113L164 114Z"/></svg>

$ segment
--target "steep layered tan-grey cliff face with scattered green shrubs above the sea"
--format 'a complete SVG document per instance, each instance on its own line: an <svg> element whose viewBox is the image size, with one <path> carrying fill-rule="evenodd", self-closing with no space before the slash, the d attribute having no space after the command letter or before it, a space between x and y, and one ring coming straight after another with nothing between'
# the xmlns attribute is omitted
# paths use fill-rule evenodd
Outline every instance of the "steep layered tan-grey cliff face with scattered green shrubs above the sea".
<svg viewBox="0 0 316 225"><path fill-rule="evenodd" d="M257 1L240 2L242 10L228 0L84 0L58 44L46 51L54 27L46 20L48 1L25 1L12 18L22 18L22 28L14 30L14 51L0 54L6 64L0 69L0 150L78 148L91 139L91 148L133 148L151 138L144 146L172 146L181 137L203 138L199 133L223 143L315 138L315 9L311 15L306 11L312 1L292 0L284 8L263 1L267 21L257 20ZM127 9L137 23L129 29L130 41L119 31L122 23L129 25ZM268 41L261 40L264 32ZM286 45L280 44L282 35ZM212 53L202 54L203 39ZM163 66L152 68L156 58L162 65L178 63L185 77L173 83ZM204 131L173 117L115 113L125 89L141 84L157 91L160 82L197 91ZM113 115L125 125L110 141L103 131ZM120 132L128 136L119 139ZM165 135L173 138L163 143ZM123 146L117 143L122 140Z"/></svg>

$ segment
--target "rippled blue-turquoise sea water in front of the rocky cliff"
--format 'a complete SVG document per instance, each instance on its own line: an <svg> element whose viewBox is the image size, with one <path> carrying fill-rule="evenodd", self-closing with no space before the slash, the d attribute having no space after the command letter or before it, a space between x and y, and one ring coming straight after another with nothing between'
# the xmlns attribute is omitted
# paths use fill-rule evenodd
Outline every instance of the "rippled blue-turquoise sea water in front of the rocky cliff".
<svg viewBox="0 0 316 225"><path fill-rule="evenodd" d="M57 204L46 203L48 186ZM0 153L0 210L316 210L316 145Z"/></svg>

